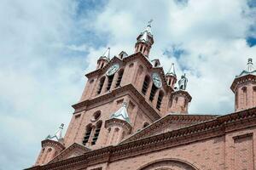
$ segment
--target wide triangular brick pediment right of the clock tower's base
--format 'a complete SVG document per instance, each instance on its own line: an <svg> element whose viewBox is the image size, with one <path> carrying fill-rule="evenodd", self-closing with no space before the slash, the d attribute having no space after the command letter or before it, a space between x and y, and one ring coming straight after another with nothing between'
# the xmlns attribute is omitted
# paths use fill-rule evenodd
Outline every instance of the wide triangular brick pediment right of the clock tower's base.
<svg viewBox="0 0 256 170"><path fill-rule="evenodd" d="M174 115L168 114L160 120L150 124L148 127L144 127L137 133L131 134L128 138L124 139L121 144L131 142L137 139L143 139L150 136L154 136L160 133L166 133L173 130L177 130L183 127L189 127L202 122L213 120L217 115Z"/></svg>

